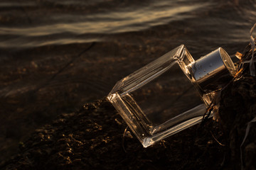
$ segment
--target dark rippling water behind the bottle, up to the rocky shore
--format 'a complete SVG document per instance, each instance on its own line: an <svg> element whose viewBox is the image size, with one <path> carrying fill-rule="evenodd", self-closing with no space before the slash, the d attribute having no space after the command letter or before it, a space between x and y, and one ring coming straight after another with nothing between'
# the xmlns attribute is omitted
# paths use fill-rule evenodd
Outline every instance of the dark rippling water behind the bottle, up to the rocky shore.
<svg viewBox="0 0 256 170"><path fill-rule="evenodd" d="M178 45L242 52L255 2L1 0L0 151Z"/></svg>

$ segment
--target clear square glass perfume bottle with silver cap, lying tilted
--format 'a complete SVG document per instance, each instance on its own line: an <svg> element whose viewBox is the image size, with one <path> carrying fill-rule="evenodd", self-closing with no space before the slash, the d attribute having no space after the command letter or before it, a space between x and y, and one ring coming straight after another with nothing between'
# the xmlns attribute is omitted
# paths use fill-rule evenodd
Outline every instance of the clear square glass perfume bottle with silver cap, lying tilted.
<svg viewBox="0 0 256 170"><path fill-rule="evenodd" d="M149 147L199 123L215 91L234 75L235 66L223 48L195 61L180 45L117 81L107 98Z"/></svg>

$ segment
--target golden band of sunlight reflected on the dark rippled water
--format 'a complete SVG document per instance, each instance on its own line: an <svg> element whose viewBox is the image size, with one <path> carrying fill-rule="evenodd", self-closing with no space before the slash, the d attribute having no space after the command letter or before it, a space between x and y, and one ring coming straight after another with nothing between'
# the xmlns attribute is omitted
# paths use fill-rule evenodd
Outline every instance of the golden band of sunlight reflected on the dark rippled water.
<svg viewBox="0 0 256 170"><path fill-rule="evenodd" d="M193 4L193 6L186 4L173 6L160 1L150 6L129 11L119 9L108 13L92 13L85 16L56 14L49 18L49 20L52 20L51 24L41 23L39 26L32 24L32 26L0 27L0 36L2 37L0 47L22 48L100 41L100 38L95 38L92 34L113 34L144 30L152 26L193 17L189 14L191 11L206 8L209 5L210 3L200 3ZM75 18L74 21L72 21L72 18ZM88 38L84 35L92 36Z"/></svg>

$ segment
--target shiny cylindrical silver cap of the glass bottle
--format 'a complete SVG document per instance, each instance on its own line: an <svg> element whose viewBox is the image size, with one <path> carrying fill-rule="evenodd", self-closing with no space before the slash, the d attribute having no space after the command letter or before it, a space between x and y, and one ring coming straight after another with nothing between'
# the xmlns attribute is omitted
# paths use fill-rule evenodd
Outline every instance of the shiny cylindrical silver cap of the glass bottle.
<svg viewBox="0 0 256 170"><path fill-rule="evenodd" d="M235 65L221 47L191 63L190 67L195 83L204 92L223 88L235 76Z"/></svg>

